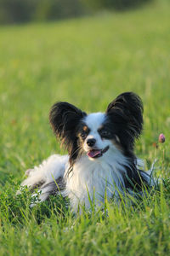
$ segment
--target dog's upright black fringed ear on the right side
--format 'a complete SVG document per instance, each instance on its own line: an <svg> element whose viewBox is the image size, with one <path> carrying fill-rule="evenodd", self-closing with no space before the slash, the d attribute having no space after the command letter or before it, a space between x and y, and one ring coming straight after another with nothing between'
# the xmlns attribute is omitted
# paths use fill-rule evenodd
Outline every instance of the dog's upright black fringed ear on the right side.
<svg viewBox="0 0 170 256"><path fill-rule="evenodd" d="M117 96L106 109L106 114L114 123L124 129L127 137L138 138L143 129L143 104L139 96L133 92L125 92Z"/></svg>

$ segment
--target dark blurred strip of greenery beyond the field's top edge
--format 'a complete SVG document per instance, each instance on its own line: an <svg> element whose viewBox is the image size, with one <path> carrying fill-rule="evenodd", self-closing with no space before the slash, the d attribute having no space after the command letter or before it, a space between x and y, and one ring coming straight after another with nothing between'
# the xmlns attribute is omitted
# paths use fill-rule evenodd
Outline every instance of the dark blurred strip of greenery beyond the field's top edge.
<svg viewBox="0 0 170 256"><path fill-rule="evenodd" d="M0 23L60 20L103 9L125 10L151 0L0 0Z"/></svg>

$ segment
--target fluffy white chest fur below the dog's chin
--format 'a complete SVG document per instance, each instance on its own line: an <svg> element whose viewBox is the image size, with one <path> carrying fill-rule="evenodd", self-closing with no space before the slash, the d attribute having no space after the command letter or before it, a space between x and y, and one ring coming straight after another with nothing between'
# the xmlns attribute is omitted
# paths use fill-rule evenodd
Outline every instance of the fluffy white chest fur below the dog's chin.
<svg viewBox="0 0 170 256"><path fill-rule="evenodd" d="M124 185L122 174L125 169L118 163L119 155L110 159L108 154L105 160L89 160L85 155L74 164L66 179L66 194L71 200L71 207L77 210L78 205L90 207L90 201L101 205L113 195L118 195ZM126 161L124 162L126 164Z"/></svg>

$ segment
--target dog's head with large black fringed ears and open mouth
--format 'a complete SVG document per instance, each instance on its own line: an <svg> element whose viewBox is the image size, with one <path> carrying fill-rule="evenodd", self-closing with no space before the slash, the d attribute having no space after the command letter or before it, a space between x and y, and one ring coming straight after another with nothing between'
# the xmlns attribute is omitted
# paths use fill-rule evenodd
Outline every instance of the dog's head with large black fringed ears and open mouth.
<svg viewBox="0 0 170 256"><path fill-rule="evenodd" d="M57 102L49 120L54 133L65 144L71 164L83 154L96 160L113 149L131 156L134 140L143 127L143 105L133 92L117 96L105 113L87 114L70 103Z"/></svg>

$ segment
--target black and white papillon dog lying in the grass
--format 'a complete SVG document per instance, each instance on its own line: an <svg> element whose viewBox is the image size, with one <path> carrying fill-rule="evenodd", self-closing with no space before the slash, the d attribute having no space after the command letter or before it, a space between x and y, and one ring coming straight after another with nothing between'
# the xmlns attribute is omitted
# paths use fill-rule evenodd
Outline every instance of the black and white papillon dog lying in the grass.
<svg viewBox="0 0 170 256"><path fill-rule="evenodd" d="M139 170L134 141L143 128L139 96L125 92L105 113L82 112L67 102L57 102L49 113L54 133L68 155L51 155L40 166L26 171L21 186L42 191L40 200L61 193L76 212L79 205L100 206L119 193L139 193L150 184L150 172ZM90 200L89 200L90 197Z"/></svg>

